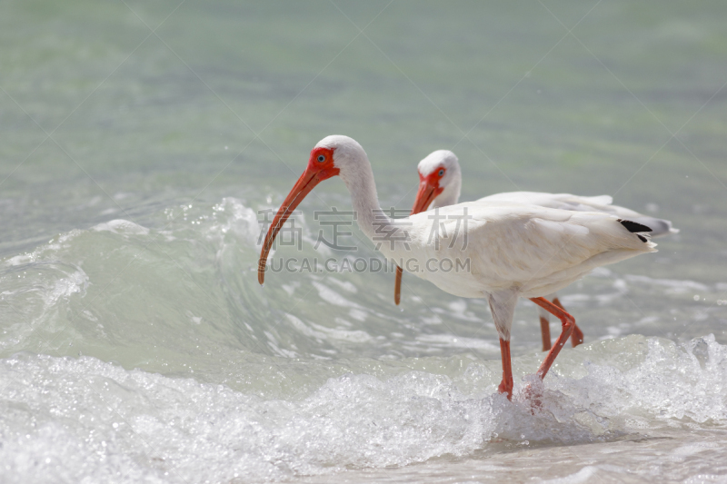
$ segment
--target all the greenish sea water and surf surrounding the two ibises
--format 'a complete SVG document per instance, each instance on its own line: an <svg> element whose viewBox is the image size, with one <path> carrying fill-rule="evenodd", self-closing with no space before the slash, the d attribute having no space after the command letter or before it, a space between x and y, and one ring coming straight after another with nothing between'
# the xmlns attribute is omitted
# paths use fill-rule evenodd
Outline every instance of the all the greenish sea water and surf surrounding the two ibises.
<svg viewBox="0 0 727 484"><path fill-rule="evenodd" d="M4 482L727 479L727 5L0 3ZM451 149L463 200L610 194L681 229L563 291L541 411L483 301L391 273L256 281L258 211L327 134L383 206ZM350 209L323 183L296 219ZM354 229L355 257L375 257ZM553 333L557 326L553 323Z"/></svg>

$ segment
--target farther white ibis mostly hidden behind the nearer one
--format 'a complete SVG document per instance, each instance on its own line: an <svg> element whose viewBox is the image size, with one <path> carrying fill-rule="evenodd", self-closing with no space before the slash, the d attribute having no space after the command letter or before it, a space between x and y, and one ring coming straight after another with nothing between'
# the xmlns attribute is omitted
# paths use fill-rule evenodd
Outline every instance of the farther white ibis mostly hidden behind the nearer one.
<svg viewBox="0 0 727 484"><path fill-rule="evenodd" d="M419 172L419 192L414 200L412 214L459 202L462 170L454 153L449 150L437 150L429 153L419 162L417 171ZM472 203L480 202L518 202L561 210L611 213L620 219L642 223L642 225L650 227L652 237L679 232L672 228L672 222L668 220L657 219L625 207L612 205L612 197L609 195L582 197L570 193L509 192L486 196ZM402 268L397 267L393 291L393 301L396 304L401 301L402 275ZM561 309L565 309L558 299L558 294L553 293L543 297ZM543 336L543 351L548 351L551 349L550 313L540 306L538 312ZM577 325L573 325L571 342L573 346L583 342L583 331Z"/></svg>

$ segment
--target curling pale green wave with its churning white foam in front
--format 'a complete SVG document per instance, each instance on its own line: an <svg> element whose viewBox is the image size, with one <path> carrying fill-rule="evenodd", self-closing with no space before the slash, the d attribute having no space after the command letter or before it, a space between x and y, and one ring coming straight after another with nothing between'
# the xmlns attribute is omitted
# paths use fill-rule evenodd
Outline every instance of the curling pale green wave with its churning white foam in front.
<svg viewBox="0 0 727 484"><path fill-rule="evenodd" d="M261 291L257 231L253 210L224 199L167 210L164 229L104 222L6 259L6 481L327 479L727 424L727 347L712 335L596 341L563 351L544 384L527 376L542 355L527 352L511 402L496 393L492 329L402 326L361 302L355 278ZM124 291L107 291L118 280ZM272 310L306 285L312 301ZM472 323L467 302L443 303ZM311 317L321 304L331 319Z"/></svg>

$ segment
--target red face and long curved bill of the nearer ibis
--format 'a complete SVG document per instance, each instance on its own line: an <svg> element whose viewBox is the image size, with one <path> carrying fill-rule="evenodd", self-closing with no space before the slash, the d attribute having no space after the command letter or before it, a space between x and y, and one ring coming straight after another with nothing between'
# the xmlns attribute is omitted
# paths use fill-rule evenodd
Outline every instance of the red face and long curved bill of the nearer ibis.
<svg viewBox="0 0 727 484"><path fill-rule="evenodd" d="M334 164L334 149L321 147L314 148L311 151L308 166L305 167L304 173L295 182L293 189L285 197L283 204L275 214L273 223L270 224L270 228L265 235L263 249L260 251L260 260L257 262L257 281L260 284L263 284L265 279L265 264L267 263L268 253L273 247L275 237L285 221L290 217L291 212L295 210L300 202L303 202L305 195L310 193L315 185L340 173L340 170Z"/></svg>

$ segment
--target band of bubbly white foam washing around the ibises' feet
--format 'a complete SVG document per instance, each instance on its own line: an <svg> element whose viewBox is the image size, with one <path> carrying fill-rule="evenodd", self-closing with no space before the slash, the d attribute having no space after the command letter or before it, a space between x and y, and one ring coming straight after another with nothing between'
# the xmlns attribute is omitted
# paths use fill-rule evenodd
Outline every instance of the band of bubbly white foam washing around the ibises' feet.
<svg viewBox="0 0 727 484"><path fill-rule="evenodd" d="M642 342L618 344L634 351ZM345 374L302 400L264 400L94 358L19 355L0 361L0 464L8 482L268 481L473 456L502 442L573 445L618 439L643 424L727 419L727 349L713 338L683 346L650 339L630 361L612 351L616 344L570 351L561 368L586 365L581 379L557 370L544 386L518 379L513 402L496 393L498 371L476 370L484 367L474 360L474 371L451 376ZM300 372L299 364L280 374ZM537 397L527 396L528 384ZM682 446L672 455L710 449ZM552 482L581 482L589 469Z"/></svg>

